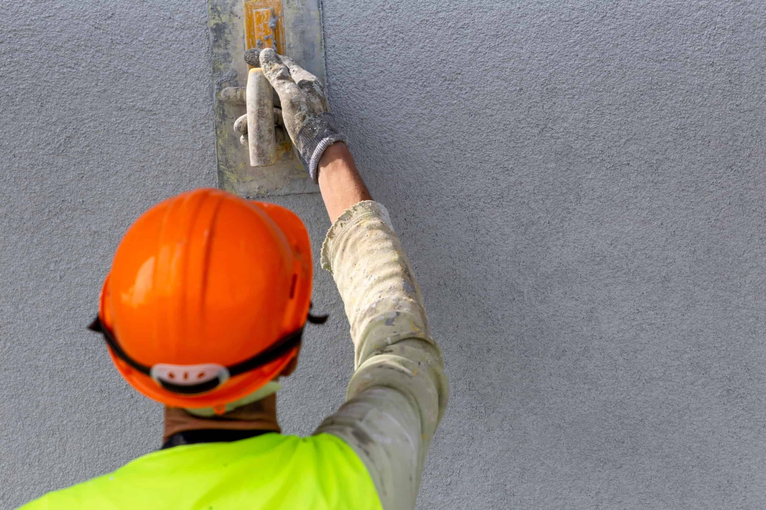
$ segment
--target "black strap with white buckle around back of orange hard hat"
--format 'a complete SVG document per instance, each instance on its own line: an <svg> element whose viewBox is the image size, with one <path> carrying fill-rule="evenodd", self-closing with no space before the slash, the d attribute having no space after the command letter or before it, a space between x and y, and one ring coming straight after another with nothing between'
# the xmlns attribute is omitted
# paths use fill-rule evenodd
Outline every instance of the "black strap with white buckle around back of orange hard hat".
<svg viewBox="0 0 766 510"><path fill-rule="evenodd" d="M218 365L218 363L201 363L198 365L172 365L170 363L157 363L156 365L144 365L136 361L123 350L112 332L103 326L99 317L88 326L89 330L103 334L106 345L110 346L114 355L126 362L131 368L149 375L154 381L168 391L183 395L196 395L211 391L227 382L235 375L249 372L260 366L284 356L294 349L303 336L303 326L293 333L288 333L266 350L258 352L255 356L245 359L234 365Z"/></svg>

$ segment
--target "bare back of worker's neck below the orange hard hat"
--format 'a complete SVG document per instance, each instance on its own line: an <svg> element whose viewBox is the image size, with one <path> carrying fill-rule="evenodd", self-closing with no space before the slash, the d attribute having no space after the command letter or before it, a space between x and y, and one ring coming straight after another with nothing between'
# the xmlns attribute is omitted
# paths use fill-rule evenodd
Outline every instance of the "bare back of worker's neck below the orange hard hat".
<svg viewBox="0 0 766 510"><path fill-rule="evenodd" d="M280 432L280 425L277 423L277 395L269 395L221 416L198 417L182 408L165 408L163 442L178 432L205 429Z"/></svg>

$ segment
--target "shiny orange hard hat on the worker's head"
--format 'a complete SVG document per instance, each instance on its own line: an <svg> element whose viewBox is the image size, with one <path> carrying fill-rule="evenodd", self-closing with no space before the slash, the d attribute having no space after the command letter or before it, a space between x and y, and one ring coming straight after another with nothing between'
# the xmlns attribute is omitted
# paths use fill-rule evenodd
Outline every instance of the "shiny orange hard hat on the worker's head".
<svg viewBox="0 0 766 510"><path fill-rule="evenodd" d="M189 191L130 226L91 329L143 395L222 412L297 356L312 271L308 232L290 210Z"/></svg>

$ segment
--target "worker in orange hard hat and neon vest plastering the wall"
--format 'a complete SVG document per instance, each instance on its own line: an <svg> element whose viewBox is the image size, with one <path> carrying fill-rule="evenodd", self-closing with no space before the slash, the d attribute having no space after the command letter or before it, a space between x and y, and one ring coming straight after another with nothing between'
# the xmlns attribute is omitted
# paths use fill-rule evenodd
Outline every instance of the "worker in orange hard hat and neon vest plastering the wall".
<svg viewBox="0 0 766 510"><path fill-rule="evenodd" d="M182 193L128 229L91 326L127 382L165 404L162 450L22 508L414 508L447 404L421 293L321 84L273 50L260 66L332 221L322 267L355 348L345 404L311 437L280 434L278 379L296 368L306 321L321 322L300 219L221 190Z"/></svg>

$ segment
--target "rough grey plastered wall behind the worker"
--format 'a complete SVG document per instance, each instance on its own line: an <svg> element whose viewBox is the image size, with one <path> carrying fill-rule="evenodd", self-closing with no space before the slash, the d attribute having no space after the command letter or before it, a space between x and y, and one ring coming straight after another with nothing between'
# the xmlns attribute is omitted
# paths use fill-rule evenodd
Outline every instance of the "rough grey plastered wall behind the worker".
<svg viewBox="0 0 766 510"><path fill-rule="evenodd" d="M324 0L332 107L452 389L419 508L766 507L766 4ZM0 508L159 446L84 327L121 233L211 186L205 0L0 15ZM315 250L318 196L285 197ZM280 417L352 370L318 271ZM321 388L321 391L319 390Z"/></svg>

